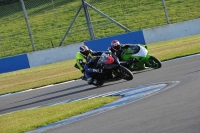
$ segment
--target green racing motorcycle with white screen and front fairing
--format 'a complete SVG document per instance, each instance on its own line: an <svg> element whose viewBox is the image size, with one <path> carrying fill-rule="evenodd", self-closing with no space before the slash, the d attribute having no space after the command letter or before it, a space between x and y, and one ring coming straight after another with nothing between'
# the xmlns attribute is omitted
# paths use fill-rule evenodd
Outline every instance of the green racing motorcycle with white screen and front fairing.
<svg viewBox="0 0 200 133"><path fill-rule="evenodd" d="M128 62L125 67L131 71L143 70L146 68L160 68L161 61L148 52L146 45L133 44L129 48L123 49L121 60Z"/></svg>

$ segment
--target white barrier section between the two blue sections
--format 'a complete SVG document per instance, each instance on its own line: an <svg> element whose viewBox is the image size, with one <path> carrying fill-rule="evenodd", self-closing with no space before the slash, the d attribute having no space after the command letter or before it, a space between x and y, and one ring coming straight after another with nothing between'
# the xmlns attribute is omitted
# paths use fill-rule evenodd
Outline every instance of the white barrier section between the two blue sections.
<svg viewBox="0 0 200 133"><path fill-rule="evenodd" d="M82 45L84 45L83 42L78 44L61 46L57 48L28 53L27 56L30 67L36 67L54 62L74 59L76 52L79 51L79 47Z"/></svg>

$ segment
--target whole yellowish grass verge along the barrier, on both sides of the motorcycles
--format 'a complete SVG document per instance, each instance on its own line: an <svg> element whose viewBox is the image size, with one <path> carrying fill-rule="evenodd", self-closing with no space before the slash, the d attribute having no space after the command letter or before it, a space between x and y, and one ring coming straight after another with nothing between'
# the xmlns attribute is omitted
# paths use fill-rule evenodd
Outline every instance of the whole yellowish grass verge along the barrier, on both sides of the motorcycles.
<svg viewBox="0 0 200 133"><path fill-rule="evenodd" d="M151 55L164 61L200 53L200 35L147 46ZM0 95L77 79L82 76L82 73L74 68L74 64L75 59L0 74Z"/></svg>

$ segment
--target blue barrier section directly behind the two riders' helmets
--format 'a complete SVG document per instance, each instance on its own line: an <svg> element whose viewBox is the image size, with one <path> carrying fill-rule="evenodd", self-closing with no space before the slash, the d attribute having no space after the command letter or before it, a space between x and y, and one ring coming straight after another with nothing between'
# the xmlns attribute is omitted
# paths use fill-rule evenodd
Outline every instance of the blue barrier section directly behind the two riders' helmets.
<svg viewBox="0 0 200 133"><path fill-rule="evenodd" d="M126 34L120 34L107 38L101 38L98 40L92 40L84 42L86 46L95 51L105 51L110 46L112 40L119 40L122 44L145 44L144 36L142 31L130 32Z"/></svg>

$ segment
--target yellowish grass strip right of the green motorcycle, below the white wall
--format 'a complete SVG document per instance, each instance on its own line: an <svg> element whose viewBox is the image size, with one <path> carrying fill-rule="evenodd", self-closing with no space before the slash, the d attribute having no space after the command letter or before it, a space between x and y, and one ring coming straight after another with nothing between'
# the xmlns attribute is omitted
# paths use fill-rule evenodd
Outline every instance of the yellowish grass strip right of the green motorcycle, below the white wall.
<svg viewBox="0 0 200 133"><path fill-rule="evenodd" d="M169 60L200 53L200 34L175 40L149 44L149 51L160 60Z"/></svg>

